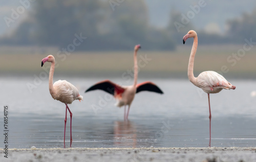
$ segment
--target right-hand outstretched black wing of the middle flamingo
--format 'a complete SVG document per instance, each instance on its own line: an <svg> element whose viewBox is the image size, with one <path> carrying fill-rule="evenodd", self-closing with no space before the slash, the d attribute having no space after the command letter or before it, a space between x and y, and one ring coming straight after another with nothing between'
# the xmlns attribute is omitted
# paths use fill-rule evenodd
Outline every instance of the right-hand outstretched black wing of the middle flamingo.
<svg viewBox="0 0 256 162"><path fill-rule="evenodd" d="M142 82L136 85L136 94L140 91L153 91L159 94L163 94L163 91L153 82Z"/></svg>

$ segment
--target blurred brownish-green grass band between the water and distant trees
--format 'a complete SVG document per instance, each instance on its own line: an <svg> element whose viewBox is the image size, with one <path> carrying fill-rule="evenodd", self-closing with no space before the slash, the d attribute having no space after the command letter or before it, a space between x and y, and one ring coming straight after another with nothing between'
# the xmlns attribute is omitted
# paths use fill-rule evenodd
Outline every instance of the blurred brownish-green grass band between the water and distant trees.
<svg viewBox="0 0 256 162"><path fill-rule="evenodd" d="M229 70L224 77L230 78L256 78L256 48L246 52L243 57L232 65L227 61L233 53L237 53L241 45L199 45L195 58L194 74L197 76L203 71L221 71L222 66ZM151 58L140 68L140 77L186 78L187 64L191 44L182 45L176 51L143 51L140 56ZM55 75L72 75L76 77L119 77L127 70L133 70L133 51L129 52L73 52L70 55L62 53L58 57L56 48L46 48L41 51L37 48L1 47L0 48L1 75L38 75L44 71L41 60L52 54L57 61ZM234 59L234 58L232 58ZM50 63L45 64L46 67ZM45 66L44 65L44 66Z"/></svg>

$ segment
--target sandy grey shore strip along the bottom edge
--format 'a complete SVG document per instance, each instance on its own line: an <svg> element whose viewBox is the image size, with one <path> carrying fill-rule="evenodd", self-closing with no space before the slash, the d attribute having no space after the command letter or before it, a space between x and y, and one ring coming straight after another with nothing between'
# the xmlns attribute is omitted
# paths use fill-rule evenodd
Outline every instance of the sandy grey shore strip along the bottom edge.
<svg viewBox="0 0 256 162"><path fill-rule="evenodd" d="M256 161L256 148L0 149L0 161Z"/></svg>

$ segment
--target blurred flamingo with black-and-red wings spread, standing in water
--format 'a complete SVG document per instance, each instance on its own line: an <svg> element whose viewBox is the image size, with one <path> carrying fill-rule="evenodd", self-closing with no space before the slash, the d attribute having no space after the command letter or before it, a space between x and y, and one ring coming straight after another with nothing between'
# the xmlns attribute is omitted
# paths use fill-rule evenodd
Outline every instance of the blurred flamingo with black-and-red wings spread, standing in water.
<svg viewBox="0 0 256 162"><path fill-rule="evenodd" d="M129 110L135 94L140 91L153 91L159 94L163 94L162 90L153 82L147 81L137 84L138 78L138 63L137 63L137 52L141 48L140 44L135 45L134 48L134 84L130 86L121 86L110 80L100 81L90 88L88 88L85 92L100 89L109 94L113 95L117 100L116 106L122 107L124 106L124 119L128 119ZM126 105L128 105L128 110L126 113Z"/></svg>

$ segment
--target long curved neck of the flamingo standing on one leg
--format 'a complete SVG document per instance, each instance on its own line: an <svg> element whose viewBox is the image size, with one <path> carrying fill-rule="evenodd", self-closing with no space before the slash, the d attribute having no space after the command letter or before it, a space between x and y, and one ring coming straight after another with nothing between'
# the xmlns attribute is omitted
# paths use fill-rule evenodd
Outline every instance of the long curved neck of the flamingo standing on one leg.
<svg viewBox="0 0 256 162"><path fill-rule="evenodd" d="M195 78L193 70L194 70L194 59L197 52L198 39L197 36L194 37L194 42L192 46L192 50L189 57L187 76L190 82L197 85L197 78Z"/></svg>

